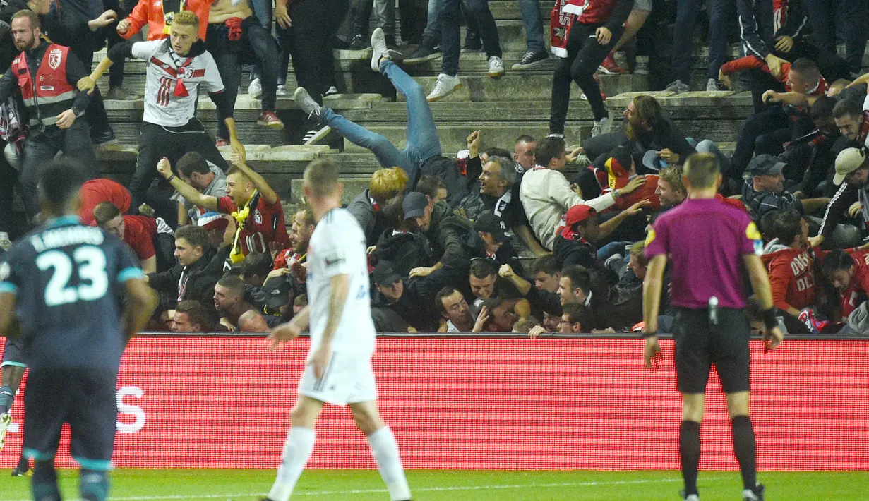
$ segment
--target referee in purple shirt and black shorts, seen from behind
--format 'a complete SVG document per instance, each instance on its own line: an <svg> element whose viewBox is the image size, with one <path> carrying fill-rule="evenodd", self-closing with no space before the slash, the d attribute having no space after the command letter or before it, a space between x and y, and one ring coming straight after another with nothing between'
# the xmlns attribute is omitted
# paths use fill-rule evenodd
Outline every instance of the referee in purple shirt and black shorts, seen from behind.
<svg viewBox="0 0 869 501"><path fill-rule="evenodd" d="M740 463L744 501L763 499L757 482L757 447L749 417L750 330L743 309L743 269L764 308L766 349L779 346L783 338L777 326L773 294L766 267L759 254L760 233L751 218L737 208L715 199L721 184L718 159L710 154L691 155L682 181L687 200L662 214L649 230L649 259L643 284L643 316L646 320L646 366L660 362L658 311L664 268L673 261L671 302L676 307L673 322L674 362L682 394L679 456L687 501L699 501L697 470L700 465L700 423L706 406L706 382L715 366L727 398L733 426L733 452Z"/></svg>

